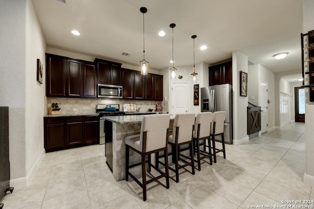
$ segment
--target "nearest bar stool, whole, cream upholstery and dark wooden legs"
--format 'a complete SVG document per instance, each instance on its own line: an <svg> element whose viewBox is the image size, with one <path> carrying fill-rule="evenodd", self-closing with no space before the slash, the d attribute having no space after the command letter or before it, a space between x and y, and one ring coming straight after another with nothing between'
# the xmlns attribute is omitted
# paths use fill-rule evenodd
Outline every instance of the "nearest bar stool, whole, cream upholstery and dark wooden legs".
<svg viewBox="0 0 314 209"><path fill-rule="evenodd" d="M157 181L158 179L166 178L166 188L169 188L169 170L168 170L168 128L170 115L146 115L143 116L141 124L141 132L137 135L128 136L125 138L126 143L126 181L129 181L129 176L143 188L143 200L146 201L146 185ZM130 148L141 155L141 162L129 165ZM159 151L164 152L164 166L165 172L159 170L156 166L151 164L151 154ZM148 156L148 161L146 161ZM160 175L146 180L146 163L148 163L148 172L151 167L155 168ZM142 183L137 180L130 172L129 168L142 165Z"/></svg>

